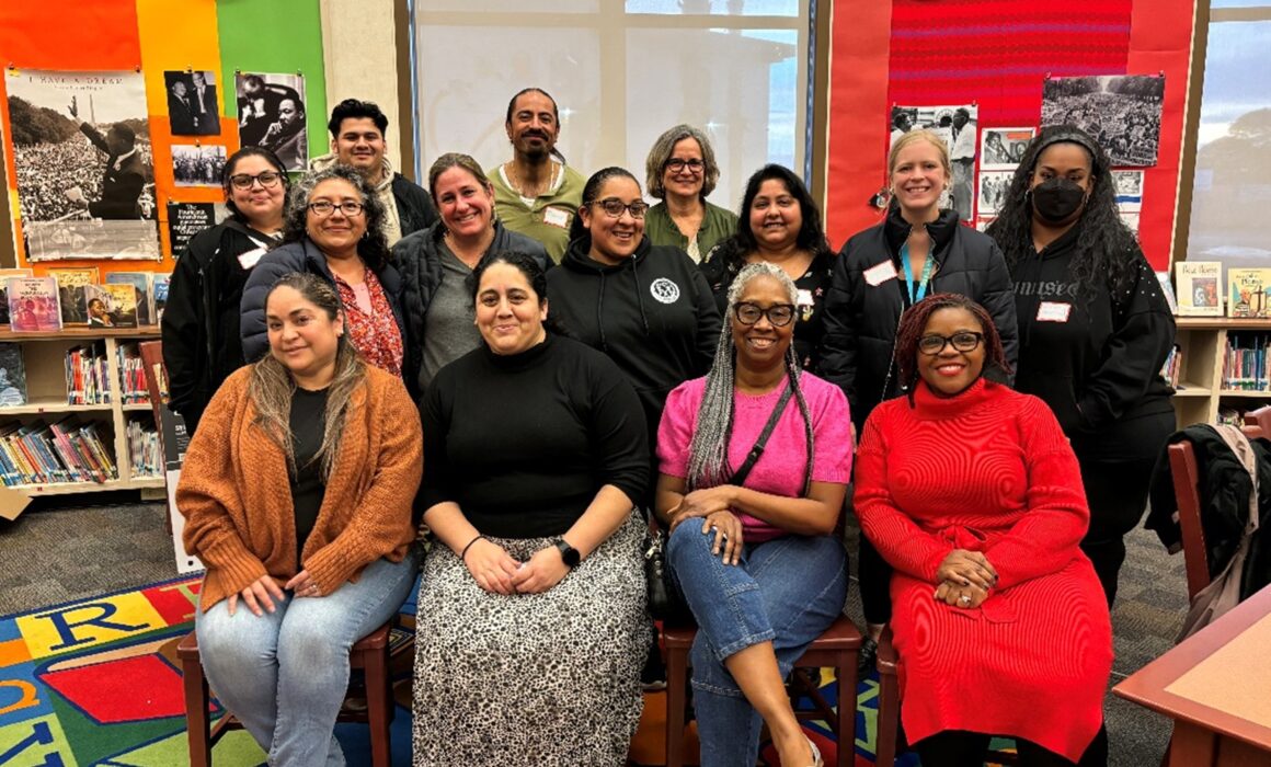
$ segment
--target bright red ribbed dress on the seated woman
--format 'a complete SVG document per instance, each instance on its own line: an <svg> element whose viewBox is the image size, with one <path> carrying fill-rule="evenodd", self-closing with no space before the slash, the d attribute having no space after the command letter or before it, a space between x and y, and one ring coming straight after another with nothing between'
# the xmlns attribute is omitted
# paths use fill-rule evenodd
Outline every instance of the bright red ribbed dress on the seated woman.
<svg viewBox="0 0 1271 767"><path fill-rule="evenodd" d="M871 413L854 505L895 569L901 720L911 743L942 730L1031 740L1074 762L1103 719L1112 625L1078 542L1080 469L1032 396L979 380L952 398L919 383ZM935 602L955 548L984 552L998 585L975 609Z"/></svg>

